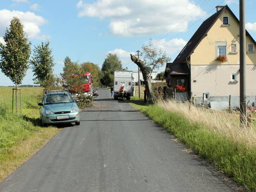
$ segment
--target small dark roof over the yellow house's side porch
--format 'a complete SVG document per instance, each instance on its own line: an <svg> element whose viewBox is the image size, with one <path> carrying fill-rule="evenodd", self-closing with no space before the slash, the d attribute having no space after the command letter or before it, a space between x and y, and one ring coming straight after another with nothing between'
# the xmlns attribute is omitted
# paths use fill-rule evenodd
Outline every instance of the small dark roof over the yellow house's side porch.
<svg viewBox="0 0 256 192"><path fill-rule="evenodd" d="M189 74L188 66L186 63L166 63L166 67L169 68L169 70L165 70L164 76L167 76L167 72L170 75Z"/></svg>

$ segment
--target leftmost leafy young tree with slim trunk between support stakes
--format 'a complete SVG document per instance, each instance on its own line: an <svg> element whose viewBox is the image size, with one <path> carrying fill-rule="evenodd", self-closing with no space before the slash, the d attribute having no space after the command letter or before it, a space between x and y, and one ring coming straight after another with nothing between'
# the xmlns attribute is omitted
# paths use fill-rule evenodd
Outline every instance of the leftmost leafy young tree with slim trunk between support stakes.
<svg viewBox="0 0 256 192"><path fill-rule="evenodd" d="M0 68L2 72L15 84L15 88L22 83L29 68L30 45L23 30L23 25L17 17L12 18L10 28L4 35L6 45L0 43ZM18 113L18 90L16 90L16 113Z"/></svg>

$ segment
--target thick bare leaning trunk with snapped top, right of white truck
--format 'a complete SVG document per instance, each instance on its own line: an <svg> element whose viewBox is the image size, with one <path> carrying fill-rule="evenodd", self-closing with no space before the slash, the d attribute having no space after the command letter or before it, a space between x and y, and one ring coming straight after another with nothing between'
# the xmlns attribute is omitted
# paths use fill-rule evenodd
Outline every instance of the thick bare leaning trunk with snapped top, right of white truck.
<svg viewBox="0 0 256 192"><path fill-rule="evenodd" d="M151 80L150 80L150 77L149 77L150 72L148 71L148 68L146 67L146 65L144 64L143 61L138 60L138 58L136 56L132 55L132 54L130 54L130 56L131 56L132 62L134 62L140 68L140 71L142 72L142 76L143 76L143 79L144 79L144 82L145 82L145 86L148 90L147 96L149 98L149 102L154 104L155 103L155 98L154 98L154 93L152 91Z"/></svg>

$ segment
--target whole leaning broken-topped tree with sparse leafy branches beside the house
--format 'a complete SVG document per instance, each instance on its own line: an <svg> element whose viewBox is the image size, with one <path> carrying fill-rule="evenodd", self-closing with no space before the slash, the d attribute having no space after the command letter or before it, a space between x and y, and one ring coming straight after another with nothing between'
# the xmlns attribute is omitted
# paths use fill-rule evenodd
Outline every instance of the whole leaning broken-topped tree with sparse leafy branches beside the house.
<svg viewBox="0 0 256 192"><path fill-rule="evenodd" d="M150 103L154 104L156 101L154 93L152 92L150 80L151 73L154 69L159 69L160 67L164 66L164 64L169 62L171 59L166 56L166 52L163 52L161 49L156 50L156 48L153 47L152 39L150 39L148 45L142 46L141 53L143 60L140 60L136 56L130 54L131 60L140 68L145 86L148 90L147 96Z"/></svg>

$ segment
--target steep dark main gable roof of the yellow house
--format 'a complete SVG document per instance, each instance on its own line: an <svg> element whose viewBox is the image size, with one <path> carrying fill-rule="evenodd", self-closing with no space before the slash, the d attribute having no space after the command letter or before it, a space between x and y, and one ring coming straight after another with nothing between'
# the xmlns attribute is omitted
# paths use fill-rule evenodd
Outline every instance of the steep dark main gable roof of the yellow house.
<svg viewBox="0 0 256 192"><path fill-rule="evenodd" d="M207 36L207 32L210 30L210 28L214 25L216 20L219 18L220 14L224 12L225 10L228 10L232 16L237 20L239 23L238 18L235 16L235 14L230 10L230 8L226 5L222 9L220 9L218 12L210 16L208 19L206 19L201 26L196 30L194 35L190 38L188 43L184 46L180 54L176 57L174 60L174 63L182 62L183 60L186 60L195 50L195 48L198 46L198 44L202 41L202 39ZM252 36L248 33L246 30L246 36L249 36L254 44L256 44L255 40L252 38Z"/></svg>

